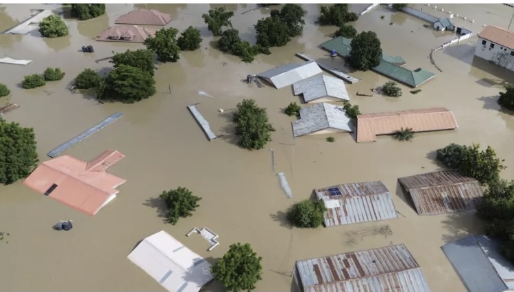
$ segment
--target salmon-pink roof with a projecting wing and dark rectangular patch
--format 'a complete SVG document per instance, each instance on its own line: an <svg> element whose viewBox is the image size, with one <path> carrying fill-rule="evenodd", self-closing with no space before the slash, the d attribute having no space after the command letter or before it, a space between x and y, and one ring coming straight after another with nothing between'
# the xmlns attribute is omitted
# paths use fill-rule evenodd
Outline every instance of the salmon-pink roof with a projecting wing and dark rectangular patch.
<svg viewBox="0 0 514 292"><path fill-rule="evenodd" d="M106 150L86 162L64 155L41 163L23 184L88 215L95 215L118 194L125 179L106 169L123 159L117 150Z"/></svg>

